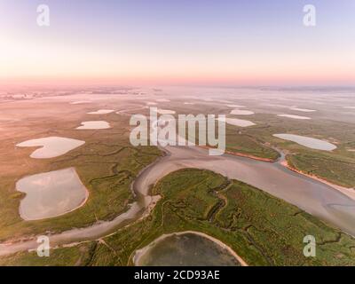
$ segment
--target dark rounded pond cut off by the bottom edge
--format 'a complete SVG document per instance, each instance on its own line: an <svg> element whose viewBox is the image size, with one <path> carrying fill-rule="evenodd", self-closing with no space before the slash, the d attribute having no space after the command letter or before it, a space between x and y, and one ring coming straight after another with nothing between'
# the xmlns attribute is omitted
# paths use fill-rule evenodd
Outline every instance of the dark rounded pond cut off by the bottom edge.
<svg viewBox="0 0 355 284"><path fill-rule="evenodd" d="M237 259L215 241L195 233L170 234L136 253L139 266L236 266Z"/></svg>

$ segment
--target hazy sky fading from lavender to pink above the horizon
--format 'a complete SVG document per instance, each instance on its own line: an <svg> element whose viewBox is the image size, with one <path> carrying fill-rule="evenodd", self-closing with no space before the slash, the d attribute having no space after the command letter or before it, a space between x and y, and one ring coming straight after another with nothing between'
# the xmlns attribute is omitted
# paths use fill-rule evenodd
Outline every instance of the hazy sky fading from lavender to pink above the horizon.
<svg viewBox="0 0 355 284"><path fill-rule="evenodd" d="M353 0L0 0L0 15L0 83L355 85Z"/></svg>

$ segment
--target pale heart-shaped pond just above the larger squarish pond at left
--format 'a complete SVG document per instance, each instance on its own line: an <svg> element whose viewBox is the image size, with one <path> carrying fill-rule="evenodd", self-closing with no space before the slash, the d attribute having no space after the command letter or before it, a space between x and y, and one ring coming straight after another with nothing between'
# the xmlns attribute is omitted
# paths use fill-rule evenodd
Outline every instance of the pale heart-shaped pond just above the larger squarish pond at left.
<svg viewBox="0 0 355 284"><path fill-rule="evenodd" d="M31 155L31 158L35 159L49 159L58 157L59 155L66 154L67 152L75 149L78 146L82 146L85 141L76 140L63 137L47 137L32 139L22 142L16 146L19 147L34 147L42 146L36 149Z"/></svg>

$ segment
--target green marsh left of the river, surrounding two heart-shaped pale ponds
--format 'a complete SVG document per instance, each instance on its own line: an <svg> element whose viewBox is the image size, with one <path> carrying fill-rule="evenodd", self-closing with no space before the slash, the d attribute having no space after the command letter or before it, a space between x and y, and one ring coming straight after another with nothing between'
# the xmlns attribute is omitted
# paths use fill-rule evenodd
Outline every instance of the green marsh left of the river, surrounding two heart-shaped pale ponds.
<svg viewBox="0 0 355 284"><path fill-rule="evenodd" d="M154 162L162 153L154 146L131 146L128 138L126 118L118 114L106 115L113 125L110 130L75 130L77 122L71 122L68 130L56 135L80 138L83 146L53 159L32 159L29 154L36 148L16 149L15 156L2 156L2 164L8 173L0 178L0 240L8 241L39 233L58 233L73 227L91 225L98 220L110 220L126 211L133 195L130 185L138 172ZM29 125L32 122L28 122ZM55 129L55 122L47 122L49 129ZM43 135L36 128L24 133L27 137ZM12 143L4 141L2 151L13 153ZM17 138L18 141L26 138ZM7 147L7 149L6 149ZM12 150L12 151L10 151ZM89 191L89 198L83 207L65 215L36 221L23 221L19 215L23 193L16 191L20 177L39 172L75 167L83 185Z"/></svg>

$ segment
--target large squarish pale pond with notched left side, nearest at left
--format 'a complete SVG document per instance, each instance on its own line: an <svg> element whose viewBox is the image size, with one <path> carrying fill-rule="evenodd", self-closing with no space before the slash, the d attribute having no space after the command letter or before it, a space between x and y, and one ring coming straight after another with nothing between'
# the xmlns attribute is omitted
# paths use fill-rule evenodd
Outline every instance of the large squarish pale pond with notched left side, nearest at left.
<svg viewBox="0 0 355 284"><path fill-rule="evenodd" d="M23 177L16 189L26 193L20 201L20 217L24 220L63 215L80 207L89 194L74 168Z"/></svg>

